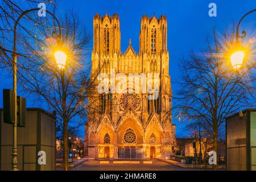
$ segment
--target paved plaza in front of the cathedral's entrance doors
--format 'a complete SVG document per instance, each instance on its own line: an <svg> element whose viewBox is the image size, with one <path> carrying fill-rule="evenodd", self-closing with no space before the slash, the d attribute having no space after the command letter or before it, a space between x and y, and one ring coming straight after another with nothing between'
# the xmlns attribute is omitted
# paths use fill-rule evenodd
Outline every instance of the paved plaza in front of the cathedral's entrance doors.
<svg viewBox="0 0 256 182"><path fill-rule="evenodd" d="M138 161L138 160L137 160ZM62 170L62 168L57 168ZM70 167L70 171L191 171L191 170L205 170L205 169L189 169L181 168L173 164L162 162L160 160L152 160L152 164L100 164L100 160L88 160L79 166ZM208 169L209 170L209 169Z"/></svg>

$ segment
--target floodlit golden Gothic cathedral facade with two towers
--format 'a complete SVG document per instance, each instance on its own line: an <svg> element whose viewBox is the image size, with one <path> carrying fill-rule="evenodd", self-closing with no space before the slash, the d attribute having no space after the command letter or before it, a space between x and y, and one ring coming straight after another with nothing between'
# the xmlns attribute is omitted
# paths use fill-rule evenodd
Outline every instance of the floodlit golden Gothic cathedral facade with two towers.
<svg viewBox="0 0 256 182"><path fill-rule="evenodd" d="M123 159L170 156L176 138L166 16L142 16L138 53L131 40L121 52L117 14L96 14L93 28L92 76L101 75L97 85L102 79L110 81L89 94L85 155Z"/></svg>

